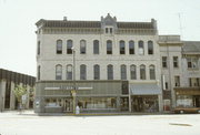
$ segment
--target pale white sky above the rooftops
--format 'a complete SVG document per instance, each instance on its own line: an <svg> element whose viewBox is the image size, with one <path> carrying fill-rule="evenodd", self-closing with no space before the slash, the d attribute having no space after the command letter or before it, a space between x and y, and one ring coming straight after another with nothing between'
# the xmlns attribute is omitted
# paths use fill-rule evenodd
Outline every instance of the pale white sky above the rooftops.
<svg viewBox="0 0 200 135"><path fill-rule="evenodd" d="M0 69L36 76L36 22L40 19L150 22L159 34L200 41L200 0L0 0Z"/></svg>

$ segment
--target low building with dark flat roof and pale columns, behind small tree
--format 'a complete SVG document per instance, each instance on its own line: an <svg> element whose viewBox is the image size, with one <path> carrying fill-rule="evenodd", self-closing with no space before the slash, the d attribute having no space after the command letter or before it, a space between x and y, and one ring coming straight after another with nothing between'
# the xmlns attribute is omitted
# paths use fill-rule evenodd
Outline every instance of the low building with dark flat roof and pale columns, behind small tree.
<svg viewBox="0 0 200 135"><path fill-rule="evenodd" d="M0 69L0 111L17 110L18 101L14 97L13 90L17 85L23 85L28 92L34 87L36 77ZM33 101L28 96L26 108L33 107Z"/></svg>

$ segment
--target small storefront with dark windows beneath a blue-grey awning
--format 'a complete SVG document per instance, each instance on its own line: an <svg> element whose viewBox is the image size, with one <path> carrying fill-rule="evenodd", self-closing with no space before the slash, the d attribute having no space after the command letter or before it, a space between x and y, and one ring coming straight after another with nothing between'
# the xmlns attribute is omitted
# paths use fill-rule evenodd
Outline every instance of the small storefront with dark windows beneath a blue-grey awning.
<svg viewBox="0 0 200 135"><path fill-rule="evenodd" d="M161 89L157 84L131 84L132 112L160 112L162 111Z"/></svg>

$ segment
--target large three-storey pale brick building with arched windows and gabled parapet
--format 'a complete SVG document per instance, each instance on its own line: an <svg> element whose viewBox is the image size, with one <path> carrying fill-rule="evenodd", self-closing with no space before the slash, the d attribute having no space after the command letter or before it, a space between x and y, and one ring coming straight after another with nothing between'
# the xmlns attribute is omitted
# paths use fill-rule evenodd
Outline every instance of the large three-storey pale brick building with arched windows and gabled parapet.
<svg viewBox="0 0 200 135"><path fill-rule="evenodd" d="M157 21L37 23L36 113L161 112ZM76 90L76 91L74 91Z"/></svg>

